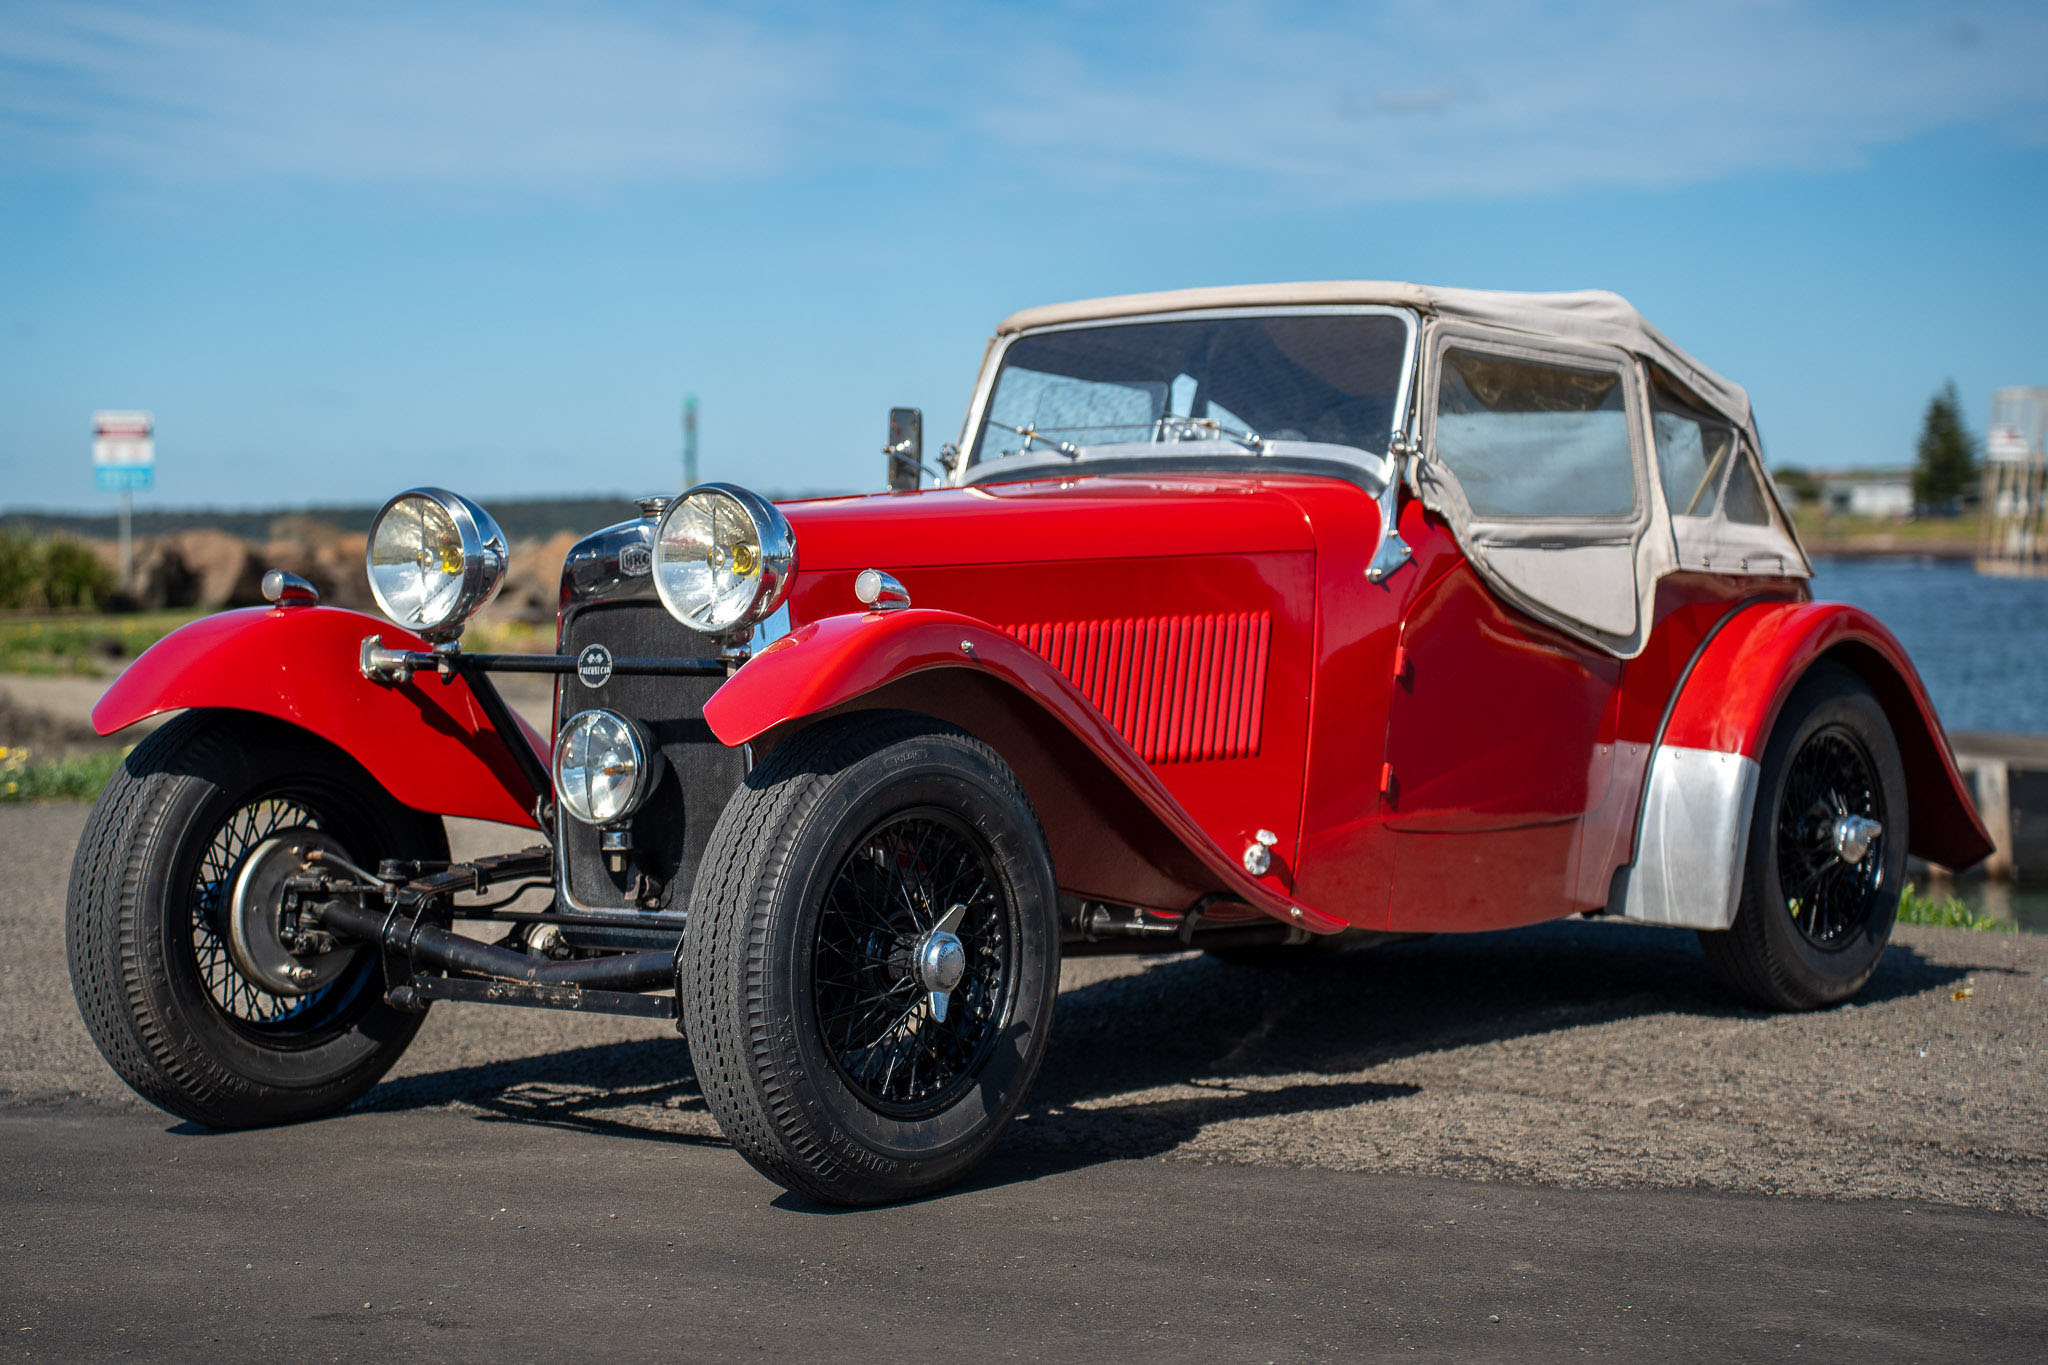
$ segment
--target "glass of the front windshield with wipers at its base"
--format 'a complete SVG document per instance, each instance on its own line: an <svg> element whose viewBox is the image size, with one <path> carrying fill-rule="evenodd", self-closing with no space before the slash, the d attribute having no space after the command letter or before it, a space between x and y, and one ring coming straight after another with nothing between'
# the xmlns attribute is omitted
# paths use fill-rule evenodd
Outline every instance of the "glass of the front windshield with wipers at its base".
<svg viewBox="0 0 2048 1365"><path fill-rule="evenodd" d="M1180 442L1225 442L1239 452L1321 442L1378 454L1393 432L1407 338L1407 319L1391 313L1202 317L1022 336L1004 352L967 463Z"/></svg>

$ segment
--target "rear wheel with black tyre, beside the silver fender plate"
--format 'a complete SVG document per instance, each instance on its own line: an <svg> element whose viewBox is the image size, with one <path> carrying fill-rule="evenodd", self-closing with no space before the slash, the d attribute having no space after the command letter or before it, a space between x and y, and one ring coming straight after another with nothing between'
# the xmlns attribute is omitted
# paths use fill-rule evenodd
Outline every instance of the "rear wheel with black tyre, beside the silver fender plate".
<svg viewBox="0 0 2048 1365"><path fill-rule="evenodd" d="M1708 966L1769 1009L1853 997L1890 941L1905 860L1890 722L1855 673L1817 663L1765 745L1735 923L1700 933Z"/></svg>

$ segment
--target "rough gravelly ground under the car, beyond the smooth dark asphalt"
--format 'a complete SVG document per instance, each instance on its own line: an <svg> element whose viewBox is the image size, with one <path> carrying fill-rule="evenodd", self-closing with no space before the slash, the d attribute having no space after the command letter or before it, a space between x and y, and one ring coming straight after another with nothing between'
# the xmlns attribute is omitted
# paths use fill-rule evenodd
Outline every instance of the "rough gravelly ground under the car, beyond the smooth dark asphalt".
<svg viewBox="0 0 2048 1365"><path fill-rule="evenodd" d="M84 806L0 808L0 1105L141 1105L63 968ZM459 855L518 831L459 825ZM1010 1154L2048 1216L2048 937L1901 927L1851 1005L1733 1005L1690 933L1556 923L1241 968L1077 958ZM369 1111L715 1140L674 1025L442 1005Z"/></svg>

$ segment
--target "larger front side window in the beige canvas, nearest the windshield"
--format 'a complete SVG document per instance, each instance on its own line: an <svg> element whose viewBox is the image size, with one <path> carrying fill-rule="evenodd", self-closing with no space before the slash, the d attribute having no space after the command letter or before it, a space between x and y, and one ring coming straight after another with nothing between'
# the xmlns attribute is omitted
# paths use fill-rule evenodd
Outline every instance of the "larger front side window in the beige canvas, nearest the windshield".
<svg viewBox="0 0 2048 1365"><path fill-rule="evenodd" d="M1622 375L1446 350L1436 454L1477 516L1628 516L1636 467Z"/></svg>

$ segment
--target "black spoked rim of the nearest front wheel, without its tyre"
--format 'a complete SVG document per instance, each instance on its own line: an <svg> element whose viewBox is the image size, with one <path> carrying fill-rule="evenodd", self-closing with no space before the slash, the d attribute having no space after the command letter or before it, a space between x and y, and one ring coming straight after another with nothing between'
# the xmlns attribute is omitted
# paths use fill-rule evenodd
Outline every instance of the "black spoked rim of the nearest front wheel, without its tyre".
<svg viewBox="0 0 2048 1365"><path fill-rule="evenodd" d="M915 1117L973 1085L1008 1015L1012 921L989 851L948 812L895 814L854 845L825 888L811 988L825 1050L864 1103ZM946 933L965 968L936 982L922 964Z"/></svg>

